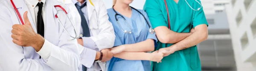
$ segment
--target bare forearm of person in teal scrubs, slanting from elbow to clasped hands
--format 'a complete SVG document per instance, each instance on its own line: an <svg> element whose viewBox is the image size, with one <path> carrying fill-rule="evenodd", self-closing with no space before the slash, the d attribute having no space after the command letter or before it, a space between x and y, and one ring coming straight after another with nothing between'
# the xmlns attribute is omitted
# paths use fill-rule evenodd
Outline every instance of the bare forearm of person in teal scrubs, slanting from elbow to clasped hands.
<svg viewBox="0 0 256 71"><path fill-rule="evenodd" d="M185 38L184 40L170 46L170 47L175 47L175 49L182 50L189 48L191 46L195 46L202 41L205 41L207 39L208 32L201 32L201 31L195 31L192 35L189 37Z"/></svg>

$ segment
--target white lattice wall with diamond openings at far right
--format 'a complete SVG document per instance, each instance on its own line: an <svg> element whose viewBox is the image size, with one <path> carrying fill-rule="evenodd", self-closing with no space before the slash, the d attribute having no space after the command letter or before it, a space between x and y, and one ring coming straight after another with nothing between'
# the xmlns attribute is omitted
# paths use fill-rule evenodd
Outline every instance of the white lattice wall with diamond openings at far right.
<svg viewBox="0 0 256 71"><path fill-rule="evenodd" d="M226 11L230 26L230 34L236 59L237 71L256 71L256 38L253 38L251 22L256 18L256 0L251 2L250 9L244 7L244 0L236 0L236 3L226 5ZM236 22L236 16L241 11L242 19ZM240 25L238 25L240 23ZM242 49L240 39L247 33L248 44Z"/></svg>

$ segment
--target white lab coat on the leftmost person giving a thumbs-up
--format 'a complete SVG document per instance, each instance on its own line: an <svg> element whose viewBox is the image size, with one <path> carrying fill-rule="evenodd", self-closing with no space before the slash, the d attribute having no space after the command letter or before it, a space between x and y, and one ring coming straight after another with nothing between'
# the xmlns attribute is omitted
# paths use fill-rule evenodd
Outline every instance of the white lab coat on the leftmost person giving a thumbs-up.
<svg viewBox="0 0 256 71"><path fill-rule="evenodd" d="M29 9L24 0L13 0L20 16L23 18ZM48 61L39 59L39 55L32 47L22 47L14 44L11 38L12 25L21 24L10 0L0 1L0 67L3 71L78 71L80 57L77 40L72 39L55 18L57 13L54 5L61 5L67 12L69 9L56 0L46 0L45 43L48 45L50 56ZM73 27L64 13L57 14L66 30L74 35ZM36 26L28 13L28 18L36 32ZM41 49L42 50L42 49ZM41 51L40 50L40 51ZM42 55L41 55L42 56Z"/></svg>

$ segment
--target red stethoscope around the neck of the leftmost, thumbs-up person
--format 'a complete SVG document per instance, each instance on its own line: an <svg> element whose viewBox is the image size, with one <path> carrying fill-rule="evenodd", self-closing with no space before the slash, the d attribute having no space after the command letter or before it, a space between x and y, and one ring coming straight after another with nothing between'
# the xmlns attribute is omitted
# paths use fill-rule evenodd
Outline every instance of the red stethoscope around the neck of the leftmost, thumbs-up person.
<svg viewBox="0 0 256 71"><path fill-rule="evenodd" d="M10 0L10 1L11 1L11 3L12 3L12 6L14 7L14 9L15 9L15 11L16 11L16 14L18 15L18 17L19 17L19 19L20 19L20 22L22 23L22 25L24 25L24 22L23 22L23 20L22 20L22 18L21 18L21 16L20 16L20 13L19 13L19 11L17 10L15 4L13 3L12 0ZM62 11L62 12L64 12L64 13L66 14L66 16L67 16L68 19L70 20L70 22L71 22L71 24L72 24L72 26L73 26L73 28L74 28L75 34L76 34L75 26L74 26L73 22L71 21L70 17L68 16L67 11L66 11L63 7L61 7L61 5L55 5L54 7L55 7L55 8L56 8L56 7L61 8L61 10L57 10L57 14L58 14L58 11ZM79 36L77 36L77 34L76 34L75 37L73 37L72 35L70 35L70 33L68 33L67 30L66 30L66 29L64 28L64 26L62 25L61 21L58 19L57 14L55 15L55 18L57 18L59 24L61 24L61 27L64 29L64 31L65 31L70 37L73 38L72 40L74 40L74 39L76 39L76 38L80 38L80 37L82 36L81 34L80 34Z"/></svg>

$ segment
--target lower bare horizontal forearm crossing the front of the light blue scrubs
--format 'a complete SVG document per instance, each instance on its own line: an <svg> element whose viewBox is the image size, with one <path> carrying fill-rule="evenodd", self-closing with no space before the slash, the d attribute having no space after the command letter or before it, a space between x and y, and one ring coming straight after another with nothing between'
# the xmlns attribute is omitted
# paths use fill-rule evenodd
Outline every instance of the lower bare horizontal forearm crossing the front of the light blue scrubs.
<svg viewBox="0 0 256 71"><path fill-rule="evenodd" d="M125 60L150 60L151 53L147 52L121 52L113 55Z"/></svg>

